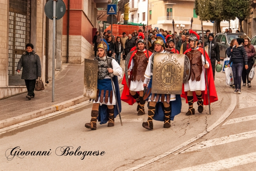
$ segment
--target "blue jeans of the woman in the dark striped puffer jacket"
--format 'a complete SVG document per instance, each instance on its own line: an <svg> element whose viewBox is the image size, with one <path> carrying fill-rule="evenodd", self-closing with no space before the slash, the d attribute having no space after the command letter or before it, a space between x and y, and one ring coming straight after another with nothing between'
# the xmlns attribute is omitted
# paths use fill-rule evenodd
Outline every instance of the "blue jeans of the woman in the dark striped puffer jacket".
<svg viewBox="0 0 256 171"><path fill-rule="evenodd" d="M234 85L236 86L236 89L241 89L243 65L244 65L244 63L234 63L233 62L233 64L232 64Z"/></svg>

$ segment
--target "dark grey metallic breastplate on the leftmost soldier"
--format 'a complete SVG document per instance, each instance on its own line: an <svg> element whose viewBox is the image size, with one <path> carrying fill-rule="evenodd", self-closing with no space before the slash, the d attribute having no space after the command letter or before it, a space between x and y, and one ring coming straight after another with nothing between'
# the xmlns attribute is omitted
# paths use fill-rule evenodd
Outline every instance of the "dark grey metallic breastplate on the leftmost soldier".
<svg viewBox="0 0 256 171"><path fill-rule="evenodd" d="M101 59L100 57L96 57L96 58L94 58L94 60L98 61L98 79L102 80L106 76L109 76L107 60ZM113 60L112 57L108 57L108 62L109 62L110 68L113 68L112 60Z"/></svg>

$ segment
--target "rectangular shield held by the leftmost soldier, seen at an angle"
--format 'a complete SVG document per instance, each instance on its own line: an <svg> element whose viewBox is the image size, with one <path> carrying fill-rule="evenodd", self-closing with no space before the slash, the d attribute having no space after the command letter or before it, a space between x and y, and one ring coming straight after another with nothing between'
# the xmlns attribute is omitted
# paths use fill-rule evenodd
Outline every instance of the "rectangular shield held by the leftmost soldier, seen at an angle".
<svg viewBox="0 0 256 171"><path fill-rule="evenodd" d="M83 96L97 98L98 61L84 59L84 88Z"/></svg>

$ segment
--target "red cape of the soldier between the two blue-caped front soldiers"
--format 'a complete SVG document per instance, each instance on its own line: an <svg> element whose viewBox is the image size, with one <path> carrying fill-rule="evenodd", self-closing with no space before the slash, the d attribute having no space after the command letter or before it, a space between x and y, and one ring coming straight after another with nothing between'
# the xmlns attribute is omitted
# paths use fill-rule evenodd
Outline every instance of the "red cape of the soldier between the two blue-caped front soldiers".
<svg viewBox="0 0 256 171"><path fill-rule="evenodd" d="M137 52L138 52L138 50L135 50L132 53L130 61L129 61L129 64L128 64L128 68L131 65L132 58L134 57L135 53L137 53ZM151 54L152 54L150 51L148 51L149 55L147 55L147 50L145 50L144 53L145 53L147 58L149 58L151 56ZM131 75L132 75L132 71L131 71ZM129 86L130 86L130 83L131 83L131 79L129 79ZM132 95L130 94L129 87L126 84L125 74L124 74L124 77L123 77L123 80L122 80L122 84L124 85L124 90L123 90L122 95L121 95L121 100L123 100L124 102L128 103L129 105L134 104L136 102L136 100L133 99Z"/></svg>

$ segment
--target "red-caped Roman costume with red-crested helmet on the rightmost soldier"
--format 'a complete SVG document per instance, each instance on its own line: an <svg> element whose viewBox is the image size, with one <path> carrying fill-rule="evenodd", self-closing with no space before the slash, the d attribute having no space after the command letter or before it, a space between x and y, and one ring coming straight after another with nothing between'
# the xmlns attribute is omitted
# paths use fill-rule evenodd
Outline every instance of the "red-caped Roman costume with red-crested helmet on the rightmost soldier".
<svg viewBox="0 0 256 171"><path fill-rule="evenodd" d="M188 77L188 80L183 84L182 86L182 95L181 97L186 98L186 102L189 105L188 112L186 115L193 115L195 114L195 109L193 108L193 102L197 101L198 104L198 112L203 112L203 105L208 105L208 99L207 99L207 91L206 91L206 79L208 79L208 86L209 86L209 95L210 95L210 103L215 102L218 100L215 85L214 85L214 79L212 75L212 69L211 69L211 61L206 54L206 64L208 65L207 68L207 78L205 75L205 61L203 56L203 49L199 48L196 45L196 41L199 40L199 35L193 31L190 30L190 37L189 42L194 41L194 48L189 48L184 52L184 54L189 58L190 61L190 75ZM188 96L187 92L193 91L193 96ZM196 95L195 91L201 91L201 95ZM197 100L194 100L197 99Z"/></svg>

